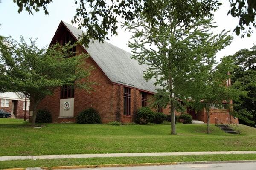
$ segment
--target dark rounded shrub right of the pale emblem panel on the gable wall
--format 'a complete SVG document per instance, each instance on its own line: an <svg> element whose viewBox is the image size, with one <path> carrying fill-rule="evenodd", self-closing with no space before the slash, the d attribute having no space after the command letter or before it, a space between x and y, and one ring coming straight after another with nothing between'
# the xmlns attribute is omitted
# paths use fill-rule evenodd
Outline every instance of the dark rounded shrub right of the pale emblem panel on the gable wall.
<svg viewBox="0 0 256 170"><path fill-rule="evenodd" d="M76 117L76 122L79 124L101 124L99 112L93 108L89 108L79 113Z"/></svg>

